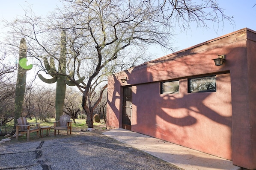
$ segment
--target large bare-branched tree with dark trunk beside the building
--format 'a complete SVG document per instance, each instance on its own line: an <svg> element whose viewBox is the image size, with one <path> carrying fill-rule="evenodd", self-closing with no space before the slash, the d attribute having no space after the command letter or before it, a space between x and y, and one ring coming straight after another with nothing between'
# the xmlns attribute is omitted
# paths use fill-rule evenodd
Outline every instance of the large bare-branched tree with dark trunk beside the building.
<svg viewBox="0 0 256 170"><path fill-rule="evenodd" d="M41 58L57 59L60 43L56 36L66 31L66 69L76 74L65 76L74 83L76 78L85 76L82 84L76 85L83 92L82 106L88 127L93 127L93 111L107 88L107 75L143 61L145 55L138 51L151 44L172 49L177 26L186 30L192 23L202 27L217 23L217 28L225 20L232 23L232 17L226 16L215 0L63 0L63 3L63 9L57 9L48 19L26 13L15 22L6 23L10 33L27 38L29 54L39 59L42 70L45 69L40 64ZM131 63L126 64L127 61ZM99 92L96 99L95 92Z"/></svg>

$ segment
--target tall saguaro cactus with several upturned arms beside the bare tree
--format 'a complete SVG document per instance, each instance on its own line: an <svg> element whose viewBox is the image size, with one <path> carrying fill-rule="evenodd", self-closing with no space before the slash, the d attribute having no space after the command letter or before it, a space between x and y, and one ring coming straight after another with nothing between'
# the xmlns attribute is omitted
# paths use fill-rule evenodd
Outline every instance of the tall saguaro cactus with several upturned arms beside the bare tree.
<svg viewBox="0 0 256 170"><path fill-rule="evenodd" d="M66 32L61 32L61 46L60 46L60 58L59 58L59 68L58 71L55 68L54 58L50 58L50 64L47 58L44 58L45 69L47 70L48 74L52 76L51 79L44 78L41 74L39 74L39 78L48 84L52 84L57 82L56 84L56 96L55 96L55 120L58 121L60 116L63 115L63 105L65 100L65 92L66 92L66 85L74 86L75 83L68 80L66 75ZM71 73L72 74L72 73ZM80 78L76 81L78 84L84 80L84 77Z"/></svg>

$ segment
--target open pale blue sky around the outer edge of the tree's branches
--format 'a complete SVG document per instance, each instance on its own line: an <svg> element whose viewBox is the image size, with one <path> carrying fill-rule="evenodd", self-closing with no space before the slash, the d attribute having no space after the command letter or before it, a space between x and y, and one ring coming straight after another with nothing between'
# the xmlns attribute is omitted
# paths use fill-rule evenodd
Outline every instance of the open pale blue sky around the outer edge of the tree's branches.
<svg viewBox="0 0 256 170"><path fill-rule="evenodd" d="M12 20L17 15L24 15L23 9L31 5L33 11L37 15L46 15L49 11L53 11L57 6L60 6L58 0L1 0L0 6L0 20ZM208 29L191 27L191 30L179 33L173 45L176 47L175 51L186 49L199 43L229 34L231 32L243 29L245 27L256 31L256 0L217 0L220 7L225 9L225 14L234 16L235 26L230 25L228 22L224 23L224 27L220 26L216 30L212 25L208 25ZM0 23L0 33L3 32L3 25ZM216 32L217 31L217 32ZM163 52L160 48L152 48L151 51L157 57L162 57L172 53L171 51Z"/></svg>

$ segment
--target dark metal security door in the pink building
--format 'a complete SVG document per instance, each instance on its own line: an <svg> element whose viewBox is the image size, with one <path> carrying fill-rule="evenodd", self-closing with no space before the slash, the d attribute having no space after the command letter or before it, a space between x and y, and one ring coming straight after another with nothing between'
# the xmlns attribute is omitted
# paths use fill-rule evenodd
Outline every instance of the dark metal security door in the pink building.
<svg viewBox="0 0 256 170"><path fill-rule="evenodd" d="M122 128L131 130L131 86L123 88Z"/></svg>

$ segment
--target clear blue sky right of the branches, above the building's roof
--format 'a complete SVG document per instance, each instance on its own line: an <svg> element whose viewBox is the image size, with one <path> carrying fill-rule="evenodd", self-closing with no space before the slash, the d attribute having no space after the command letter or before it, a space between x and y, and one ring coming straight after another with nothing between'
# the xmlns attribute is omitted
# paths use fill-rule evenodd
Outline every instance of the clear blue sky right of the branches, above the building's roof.
<svg viewBox="0 0 256 170"><path fill-rule="evenodd" d="M235 26L226 22L224 27L220 26L218 30L214 30L212 25L208 25L209 29L191 28L191 30L183 32L176 37L176 45L179 50L246 27L256 31L256 6L253 7L256 0L218 0L218 3L221 8L225 9L226 15L234 16Z"/></svg>

